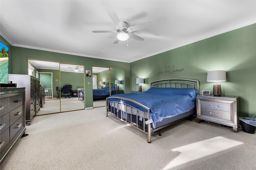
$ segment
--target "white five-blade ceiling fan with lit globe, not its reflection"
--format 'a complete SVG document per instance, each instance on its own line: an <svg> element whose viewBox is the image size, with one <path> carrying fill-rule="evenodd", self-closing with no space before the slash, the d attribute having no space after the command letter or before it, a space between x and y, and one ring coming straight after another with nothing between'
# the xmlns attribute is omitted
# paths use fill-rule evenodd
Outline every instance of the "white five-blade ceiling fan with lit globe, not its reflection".
<svg viewBox="0 0 256 170"><path fill-rule="evenodd" d="M140 29L145 29L147 27L150 27L152 24L151 22L145 22L142 24L129 26L127 22L120 21L115 13L108 13L108 16L112 19L114 24L116 25L116 30L113 31L92 31L93 33L118 33L116 36L116 39L114 41L114 44L117 44L120 41L126 41L129 37L132 39L135 39L137 41L144 41L142 37L139 37L138 35L135 35L134 31L138 31Z"/></svg>

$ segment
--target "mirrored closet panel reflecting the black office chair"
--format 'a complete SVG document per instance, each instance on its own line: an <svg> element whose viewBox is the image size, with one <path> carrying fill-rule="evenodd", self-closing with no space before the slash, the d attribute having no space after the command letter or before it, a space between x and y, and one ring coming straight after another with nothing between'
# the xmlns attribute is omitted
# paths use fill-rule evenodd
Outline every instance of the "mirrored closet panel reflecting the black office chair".
<svg viewBox="0 0 256 170"><path fill-rule="evenodd" d="M59 89L61 112L84 109L84 66L60 63Z"/></svg>

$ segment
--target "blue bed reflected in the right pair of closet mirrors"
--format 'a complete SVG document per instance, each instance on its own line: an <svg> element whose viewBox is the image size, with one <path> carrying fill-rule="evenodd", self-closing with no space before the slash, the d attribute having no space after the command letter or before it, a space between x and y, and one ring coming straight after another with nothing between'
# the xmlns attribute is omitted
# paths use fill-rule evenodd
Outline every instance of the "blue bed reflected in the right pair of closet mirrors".
<svg viewBox="0 0 256 170"><path fill-rule="evenodd" d="M93 89L92 90L92 95L93 95L93 100L99 100L99 99L106 99L107 97L109 97L109 90L110 88L111 90L115 90L115 84L114 83L107 83L105 84L105 87L101 88L101 89Z"/></svg>

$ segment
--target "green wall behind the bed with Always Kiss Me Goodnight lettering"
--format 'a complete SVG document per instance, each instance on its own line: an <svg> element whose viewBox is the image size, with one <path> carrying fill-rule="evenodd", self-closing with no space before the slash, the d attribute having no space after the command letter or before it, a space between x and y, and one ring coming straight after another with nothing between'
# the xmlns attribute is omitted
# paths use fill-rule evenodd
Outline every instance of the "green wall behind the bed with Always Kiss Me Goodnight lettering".
<svg viewBox="0 0 256 170"><path fill-rule="evenodd" d="M172 72L171 70L177 70ZM137 90L136 78L144 78L147 90L154 80L186 78L199 80L202 90L210 90L207 72L226 70L221 82L222 96L240 96L241 116L256 113L256 24L223 33L130 64L131 90Z"/></svg>

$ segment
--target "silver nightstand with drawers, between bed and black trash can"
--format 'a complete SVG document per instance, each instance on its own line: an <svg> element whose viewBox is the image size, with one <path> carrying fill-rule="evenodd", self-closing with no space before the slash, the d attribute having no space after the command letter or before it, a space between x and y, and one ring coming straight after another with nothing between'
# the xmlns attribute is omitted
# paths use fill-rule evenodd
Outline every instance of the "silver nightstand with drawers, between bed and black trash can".
<svg viewBox="0 0 256 170"><path fill-rule="evenodd" d="M238 96L197 96L197 122L200 120L233 127L240 126L240 97Z"/></svg>

